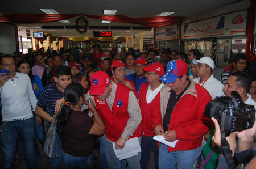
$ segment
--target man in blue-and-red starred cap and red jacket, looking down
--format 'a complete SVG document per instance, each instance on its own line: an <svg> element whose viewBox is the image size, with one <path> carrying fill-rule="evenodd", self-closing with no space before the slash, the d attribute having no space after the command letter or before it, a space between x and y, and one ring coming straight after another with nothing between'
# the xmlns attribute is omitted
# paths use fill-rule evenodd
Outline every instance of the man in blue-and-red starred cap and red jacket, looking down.
<svg viewBox="0 0 256 169"><path fill-rule="evenodd" d="M159 143L159 168L174 168L176 163L178 168L193 168L202 150L203 136L212 126L204 114L212 97L188 75L188 65L174 60L160 78L166 84L152 108L152 128L166 141L178 141L175 147Z"/></svg>

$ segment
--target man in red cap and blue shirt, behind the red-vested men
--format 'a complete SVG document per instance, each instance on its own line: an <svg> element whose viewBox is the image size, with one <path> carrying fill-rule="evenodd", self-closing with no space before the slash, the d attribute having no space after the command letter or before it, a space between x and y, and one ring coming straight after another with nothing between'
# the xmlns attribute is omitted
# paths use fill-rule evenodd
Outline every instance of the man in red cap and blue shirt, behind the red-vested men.
<svg viewBox="0 0 256 169"><path fill-rule="evenodd" d="M125 78L133 81L136 88L137 94L139 93L139 88L142 83L146 82L145 74L146 72L142 69L147 66L147 61L144 57L138 57L134 61L134 70L135 73L127 75Z"/></svg>

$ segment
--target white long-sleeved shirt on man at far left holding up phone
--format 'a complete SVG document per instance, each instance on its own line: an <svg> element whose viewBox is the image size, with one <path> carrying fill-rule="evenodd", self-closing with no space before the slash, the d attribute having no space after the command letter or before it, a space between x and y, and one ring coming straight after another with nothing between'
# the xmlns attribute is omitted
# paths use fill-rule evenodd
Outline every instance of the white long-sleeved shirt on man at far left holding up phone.
<svg viewBox="0 0 256 169"><path fill-rule="evenodd" d="M9 79L0 90L3 121L33 117L31 105L35 110L38 100L27 74L16 73L14 81Z"/></svg>

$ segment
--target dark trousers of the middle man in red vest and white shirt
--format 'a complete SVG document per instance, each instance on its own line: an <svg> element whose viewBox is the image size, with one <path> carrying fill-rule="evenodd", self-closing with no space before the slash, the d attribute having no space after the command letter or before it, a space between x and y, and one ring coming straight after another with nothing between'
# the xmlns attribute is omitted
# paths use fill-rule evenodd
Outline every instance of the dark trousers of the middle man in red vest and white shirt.
<svg viewBox="0 0 256 169"><path fill-rule="evenodd" d="M153 140L153 136L142 136L141 137L141 168L147 168L150 161L151 147L154 152L155 169L158 169L158 142Z"/></svg>

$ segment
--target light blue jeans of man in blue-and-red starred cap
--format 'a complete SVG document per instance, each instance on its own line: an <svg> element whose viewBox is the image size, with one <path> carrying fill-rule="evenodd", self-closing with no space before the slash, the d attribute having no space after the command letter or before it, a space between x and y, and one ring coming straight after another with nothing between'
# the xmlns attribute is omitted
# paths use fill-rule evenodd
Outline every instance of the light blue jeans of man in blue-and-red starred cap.
<svg viewBox="0 0 256 169"><path fill-rule="evenodd" d="M176 163L178 169L193 168L193 164L201 153L201 148L187 151L172 151L168 152L168 146L161 144L159 147L159 168L174 169Z"/></svg>

